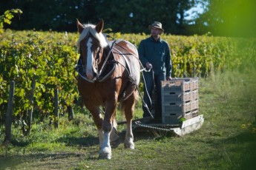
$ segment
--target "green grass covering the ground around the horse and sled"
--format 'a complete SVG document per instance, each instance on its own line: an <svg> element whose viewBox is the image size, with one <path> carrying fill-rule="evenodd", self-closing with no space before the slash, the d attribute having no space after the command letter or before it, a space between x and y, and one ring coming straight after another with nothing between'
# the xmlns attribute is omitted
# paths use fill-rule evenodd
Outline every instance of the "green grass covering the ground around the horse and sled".
<svg viewBox="0 0 256 170"><path fill-rule="evenodd" d="M0 146L0 169L255 169L255 75L249 70L200 78L201 129L184 137L134 134L136 148L121 144L112 149L111 160L97 160L96 128L81 109L75 109L75 120L60 118L59 129L45 120L24 137L13 128L13 143ZM141 114L139 106L137 117Z"/></svg>

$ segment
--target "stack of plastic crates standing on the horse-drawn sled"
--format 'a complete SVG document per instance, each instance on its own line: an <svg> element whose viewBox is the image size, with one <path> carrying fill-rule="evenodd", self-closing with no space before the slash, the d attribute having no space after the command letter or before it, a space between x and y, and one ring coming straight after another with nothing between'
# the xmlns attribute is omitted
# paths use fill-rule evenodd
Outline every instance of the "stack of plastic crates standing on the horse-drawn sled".
<svg viewBox="0 0 256 170"><path fill-rule="evenodd" d="M198 78L162 81L162 123L178 124L198 115Z"/></svg>

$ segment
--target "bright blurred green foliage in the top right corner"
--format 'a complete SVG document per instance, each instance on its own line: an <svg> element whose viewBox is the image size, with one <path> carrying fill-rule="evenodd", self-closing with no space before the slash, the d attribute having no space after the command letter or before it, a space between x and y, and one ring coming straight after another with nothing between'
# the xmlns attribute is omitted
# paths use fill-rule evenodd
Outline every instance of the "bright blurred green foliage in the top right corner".
<svg viewBox="0 0 256 170"><path fill-rule="evenodd" d="M254 0L208 0L206 13L197 19L202 32L226 36L255 36Z"/></svg>

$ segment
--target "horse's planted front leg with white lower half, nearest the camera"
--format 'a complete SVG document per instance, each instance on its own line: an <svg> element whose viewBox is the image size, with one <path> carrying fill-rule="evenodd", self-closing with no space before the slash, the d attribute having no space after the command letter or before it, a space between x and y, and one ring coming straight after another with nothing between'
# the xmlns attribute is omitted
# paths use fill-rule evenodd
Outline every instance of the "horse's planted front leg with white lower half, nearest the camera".
<svg viewBox="0 0 256 170"><path fill-rule="evenodd" d="M103 142L99 150L100 159L111 159L111 131L113 129L113 120L116 110L117 100L107 101L105 107L105 117L102 123Z"/></svg>

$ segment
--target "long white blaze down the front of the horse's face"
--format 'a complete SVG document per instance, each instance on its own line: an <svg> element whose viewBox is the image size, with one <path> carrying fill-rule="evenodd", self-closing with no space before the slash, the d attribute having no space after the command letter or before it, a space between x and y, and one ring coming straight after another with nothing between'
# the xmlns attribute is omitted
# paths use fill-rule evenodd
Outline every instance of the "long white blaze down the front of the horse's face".
<svg viewBox="0 0 256 170"><path fill-rule="evenodd" d="M93 52L91 51L92 44L93 44L93 40L89 38L87 42L87 62L86 62L86 76L89 80L93 79Z"/></svg>

